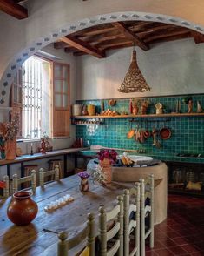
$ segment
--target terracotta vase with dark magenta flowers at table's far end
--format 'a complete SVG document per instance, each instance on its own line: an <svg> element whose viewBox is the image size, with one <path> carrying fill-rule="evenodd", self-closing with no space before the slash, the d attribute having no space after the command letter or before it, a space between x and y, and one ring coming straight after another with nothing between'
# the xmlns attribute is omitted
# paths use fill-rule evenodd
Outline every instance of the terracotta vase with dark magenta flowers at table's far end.
<svg viewBox="0 0 204 256"><path fill-rule="evenodd" d="M110 183L112 181L112 165L115 163L117 158L117 152L115 150L102 150L97 152L98 159L100 160L100 165L102 166L102 172L104 173L105 183Z"/></svg>

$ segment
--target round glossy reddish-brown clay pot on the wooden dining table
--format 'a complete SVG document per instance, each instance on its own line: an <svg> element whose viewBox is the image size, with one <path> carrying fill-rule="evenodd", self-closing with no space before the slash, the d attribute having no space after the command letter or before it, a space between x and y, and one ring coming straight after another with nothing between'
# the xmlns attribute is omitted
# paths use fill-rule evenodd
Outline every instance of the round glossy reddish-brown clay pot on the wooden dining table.
<svg viewBox="0 0 204 256"><path fill-rule="evenodd" d="M7 209L7 215L10 221L17 226L24 226L36 218L38 206L31 199L31 192L16 192L13 194L13 199Z"/></svg>

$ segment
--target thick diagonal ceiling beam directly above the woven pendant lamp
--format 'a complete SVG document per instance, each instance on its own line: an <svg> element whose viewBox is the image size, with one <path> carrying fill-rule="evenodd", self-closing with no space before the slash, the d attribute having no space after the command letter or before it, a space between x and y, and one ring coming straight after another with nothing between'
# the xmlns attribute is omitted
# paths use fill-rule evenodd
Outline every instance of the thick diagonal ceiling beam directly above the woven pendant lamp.
<svg viewBox="0 0 204 256"><path fill-rule="evenodd" d="M145 44L140 37L137 37L131 30L128 29L128 27L125 26L125 24L123 24L122 22L117 22L117 23L112 23L113 26L115 26L115 28L117 30L120 30L122 32L123 35L125 35L126 37L128 37L128 39L133 40L133 42L138 45L139 47L141 47L142 50L144 51L148 51L149 46L148 44Z"/></svg>

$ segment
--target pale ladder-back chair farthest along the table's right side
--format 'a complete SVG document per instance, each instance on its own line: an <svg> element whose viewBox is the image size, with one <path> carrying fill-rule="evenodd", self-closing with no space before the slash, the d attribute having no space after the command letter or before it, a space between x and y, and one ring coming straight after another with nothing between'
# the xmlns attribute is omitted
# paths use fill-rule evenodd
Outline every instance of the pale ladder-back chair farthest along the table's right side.
<svg viewBox="0 0 204 256"><path fill-rule="evenodd" d="M150 248L154 247L154 175L140 179L141 183L141 256L145 256L145 240L150 239ZM145 222L148 222L145 225Z"/></svg>

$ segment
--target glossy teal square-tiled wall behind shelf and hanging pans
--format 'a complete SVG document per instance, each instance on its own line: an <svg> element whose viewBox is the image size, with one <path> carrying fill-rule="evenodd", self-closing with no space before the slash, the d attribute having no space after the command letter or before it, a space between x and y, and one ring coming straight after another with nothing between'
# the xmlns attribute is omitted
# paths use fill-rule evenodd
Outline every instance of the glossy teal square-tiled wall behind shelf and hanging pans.
<svg viewBox="0 0 204 256"><path fill-rule="evenodd" d="M197 101L200 101L204 107L204 94L194 95L194 112L196 112ZM145 98L150 101L148 113L155 113L155 104L160 102L165 107L165 112L175 111L176 100L181 101L181 112L188 111L188 105L182 102L184 96L180 97L162 97L162 98ZM76 104L95 104L96 111L101 111L100 100L77 101ZM118 99L115 106L110 107L108 100L104 100L105 109L109 108L114 111L128 112L129 98ZM180 118L137 118L137 122L132 127L141 127L152 130L154 127L160 130L163 126L171 129L172 136L168 140L162 140L161 149L153 146L153 138L148 138L140 144L134 138L128 139L127 132L130 129L130 118L125 119L104 119L104 125L99 125L95 135L89 135L86 125L76 125L76 138L83 138L90 145L102 145L107 147L141 149L146 154L161 159L173 159L179 152L182 153L201 153L204 155L204 117L180 117ZM166 120L166 121L165 121ZM186 161L185 158L176 158L180 161ZM196 159L197 162L204 162L204 159Z"/></svg>

